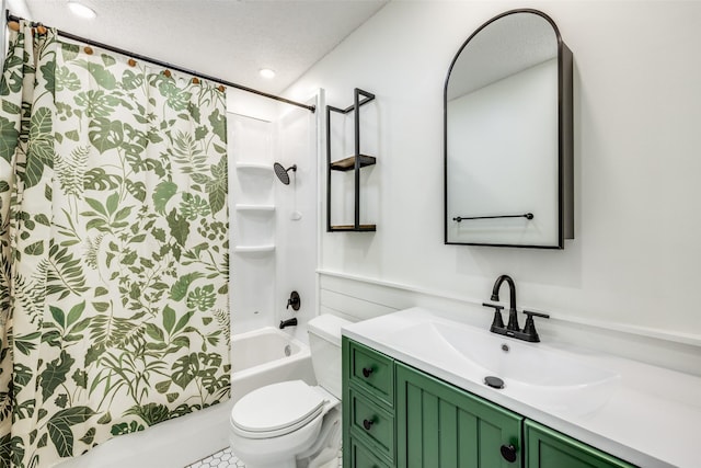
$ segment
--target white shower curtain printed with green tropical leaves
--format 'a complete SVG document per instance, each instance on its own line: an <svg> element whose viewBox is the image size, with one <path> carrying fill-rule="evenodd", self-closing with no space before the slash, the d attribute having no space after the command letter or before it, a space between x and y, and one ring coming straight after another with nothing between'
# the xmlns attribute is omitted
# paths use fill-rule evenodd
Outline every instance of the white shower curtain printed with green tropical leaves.
<svg viewBox="0 0 701 468"><path fill-rule="evenodd" d="M23 23L0 100L0 467L228 399L223 91Z"/></svg>

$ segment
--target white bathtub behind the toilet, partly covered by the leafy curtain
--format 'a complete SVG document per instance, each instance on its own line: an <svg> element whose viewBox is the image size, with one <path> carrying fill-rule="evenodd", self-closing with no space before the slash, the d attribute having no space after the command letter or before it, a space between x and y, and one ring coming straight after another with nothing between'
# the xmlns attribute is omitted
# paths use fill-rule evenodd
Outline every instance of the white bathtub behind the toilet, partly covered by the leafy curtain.
<svg viewBox="0 0 701 468"><path fill-rule="evenodd" d="M112 438L57 467L182 468L229 445L229 414L245 393L291 379L315 385L309 346L276 328L231 336L231 400Z"/></svg>

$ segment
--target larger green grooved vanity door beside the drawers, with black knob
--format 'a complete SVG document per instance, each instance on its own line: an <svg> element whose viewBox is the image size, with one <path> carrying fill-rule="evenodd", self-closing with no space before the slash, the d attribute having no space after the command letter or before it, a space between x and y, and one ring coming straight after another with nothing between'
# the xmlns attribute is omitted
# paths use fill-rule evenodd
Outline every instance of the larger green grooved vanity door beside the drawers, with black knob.
<svg viewBox="0 0 701 468"><path fill-rule="evenodd" d="M395 377L399 468L521 467L520 415L401 363Z"/></svg>

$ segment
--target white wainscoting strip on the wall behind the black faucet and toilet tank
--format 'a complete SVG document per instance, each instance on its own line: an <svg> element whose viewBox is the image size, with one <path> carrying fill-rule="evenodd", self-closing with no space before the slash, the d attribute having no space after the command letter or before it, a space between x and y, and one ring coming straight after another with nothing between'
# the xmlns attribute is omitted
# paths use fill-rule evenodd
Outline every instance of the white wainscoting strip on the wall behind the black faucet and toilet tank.
<svg viewBox="0 0 701 468"><path fill-rule="evenodd" d="M482 306L482 303L489 301L491 290L485 290L481 298L457 297L400 283L330 271L318 273L320 313L360 321L420 306L455 315L458 320L485 329L492 323L493 310ZM503 294L504 297L507 296ZM507 301L508 298L502 304L508 306ZM532 306L517 301L519 312L527 309L551 316L550 319L536 318L541 341L558 341L701 376L701 336L666 334L628 324L597 323L567 316L565 311L542 310ZM519 316L522 324L525 316Z"/></svg>

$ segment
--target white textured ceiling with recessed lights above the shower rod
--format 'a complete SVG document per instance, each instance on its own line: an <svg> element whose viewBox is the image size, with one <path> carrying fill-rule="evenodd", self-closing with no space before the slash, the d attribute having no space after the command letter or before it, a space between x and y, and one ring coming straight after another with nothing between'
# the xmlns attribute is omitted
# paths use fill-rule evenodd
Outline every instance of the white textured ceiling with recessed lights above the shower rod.
<svg viewBox="0 0 701 468"><path fill-rule="evenodd" d="M22 15L12 11L16 1L9 1L10 11ZM94 20L74 16L67 0L25 3L28 19L48 26L279 93L387 1L84 0ZM263 79L261 68L277 76Z"/></svg>

